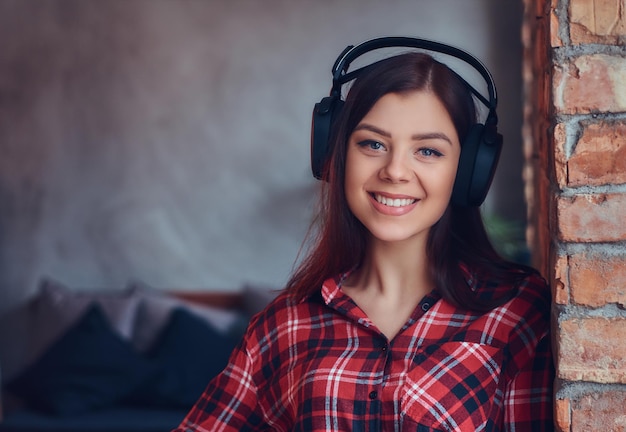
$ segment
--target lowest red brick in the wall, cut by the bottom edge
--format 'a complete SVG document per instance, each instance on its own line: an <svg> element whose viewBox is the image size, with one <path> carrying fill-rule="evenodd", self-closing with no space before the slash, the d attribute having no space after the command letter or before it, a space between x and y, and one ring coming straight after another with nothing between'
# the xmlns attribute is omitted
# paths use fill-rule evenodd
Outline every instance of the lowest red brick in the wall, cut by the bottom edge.
<svg viewBox="0 0 626 432"><path fill-rule="evenodd" d="M572 431L626 431L626 392L582 396L572 405Z"/></svg>

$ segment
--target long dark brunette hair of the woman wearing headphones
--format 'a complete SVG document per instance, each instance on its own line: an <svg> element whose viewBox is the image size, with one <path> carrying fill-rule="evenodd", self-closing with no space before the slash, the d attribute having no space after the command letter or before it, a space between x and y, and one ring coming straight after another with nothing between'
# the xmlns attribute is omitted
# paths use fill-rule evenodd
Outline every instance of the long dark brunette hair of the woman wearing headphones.
<svg viewBox="0 0 626 432"><path fill-rule="evenodd" d="M332 155L325 168L317 226L309 231L311 249L296 268L286 290L300 300L319 292L329 277L357 268L364 259L367 230L350 211L345 191L347 142L350 134L374 104L389 93L429 91L449 113L461 144L477 121L471 92L448 66L428 54L410 52L368 66L354 80L336 124ZM467 271L490 282L511 281L529 271L505 261L493 248L478 207L448 206L431 228L427 244L429 270L436 289L447 301L485 311L506 302L514 293L497 298L478 296ZM465 271L462 269L465 267Z"/></svg>

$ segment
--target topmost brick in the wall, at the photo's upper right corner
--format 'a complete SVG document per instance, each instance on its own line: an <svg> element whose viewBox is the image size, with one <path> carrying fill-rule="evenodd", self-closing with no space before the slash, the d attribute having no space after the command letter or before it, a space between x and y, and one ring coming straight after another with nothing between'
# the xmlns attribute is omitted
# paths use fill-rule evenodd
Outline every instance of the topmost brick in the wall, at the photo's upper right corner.
<svg viewBox="0 0 626 432"><path fill-rule="evenodd" d="M626 35L622 0L570 0L570 39L573 44L618 44Z"/></svg>

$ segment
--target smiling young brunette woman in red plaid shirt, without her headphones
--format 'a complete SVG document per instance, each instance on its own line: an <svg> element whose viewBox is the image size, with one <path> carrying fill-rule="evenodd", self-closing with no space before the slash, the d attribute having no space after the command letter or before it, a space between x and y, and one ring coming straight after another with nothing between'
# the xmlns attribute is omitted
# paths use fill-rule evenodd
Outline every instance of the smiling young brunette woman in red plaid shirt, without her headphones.
<svg viewBox="0 0 626 432"><path fill-rule="evenodd" d="M309 255L183 431L545 431L550 294L451 201L472 91L418 52L357 76Z"/></svg>

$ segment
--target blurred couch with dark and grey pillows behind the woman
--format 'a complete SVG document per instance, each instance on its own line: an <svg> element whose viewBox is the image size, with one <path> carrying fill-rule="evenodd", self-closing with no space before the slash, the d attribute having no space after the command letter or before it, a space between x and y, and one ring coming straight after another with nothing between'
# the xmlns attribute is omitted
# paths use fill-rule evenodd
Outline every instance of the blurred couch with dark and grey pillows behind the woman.
<svg viewBox="0 0 626 432"><path fill-rule="evenodd" d="M0 432L169 431L274 295L44 279L0 317Z"/></svg>

